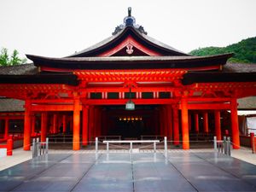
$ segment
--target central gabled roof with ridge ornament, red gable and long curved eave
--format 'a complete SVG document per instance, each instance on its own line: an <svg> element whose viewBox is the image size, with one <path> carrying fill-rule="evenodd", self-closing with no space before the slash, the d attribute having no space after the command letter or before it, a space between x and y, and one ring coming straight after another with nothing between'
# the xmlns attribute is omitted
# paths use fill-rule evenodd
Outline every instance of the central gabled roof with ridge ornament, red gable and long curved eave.
<svg viewBox="0 0 256 192"><path fill-rule="evenodd" d="M143 26L136 24L131 9L124 23L117 26L113 36L88 49L64 58L26 55L42 71L72 71L73 69L155 69L195 68L216 70L224 65L232 54L193 56L185 54L154 38L150 38Z"/></svg>

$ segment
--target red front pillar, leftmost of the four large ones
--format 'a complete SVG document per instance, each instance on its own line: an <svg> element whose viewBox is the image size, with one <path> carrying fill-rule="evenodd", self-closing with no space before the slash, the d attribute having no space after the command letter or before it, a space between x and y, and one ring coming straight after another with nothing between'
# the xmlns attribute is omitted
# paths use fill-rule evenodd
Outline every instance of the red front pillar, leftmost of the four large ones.
<svg viewBox="0 0 256 192"><path fill-rule="evenodd" d="M26 151L30 150L30 140L31 140L31 102L26 100L25 102L25 117L24 117L24 139L23 139L23 149Z"/></svg>

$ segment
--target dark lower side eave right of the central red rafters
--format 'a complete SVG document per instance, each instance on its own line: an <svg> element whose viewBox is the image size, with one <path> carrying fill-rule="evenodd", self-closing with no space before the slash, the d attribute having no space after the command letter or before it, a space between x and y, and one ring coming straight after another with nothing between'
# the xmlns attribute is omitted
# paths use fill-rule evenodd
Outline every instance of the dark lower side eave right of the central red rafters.
<svg viewBox="0 0 256 192"><path fill-rule="evenodd" d="M221 83L221 82L256 82L254 73L189 72L183 75L183 84Z"/></svg>

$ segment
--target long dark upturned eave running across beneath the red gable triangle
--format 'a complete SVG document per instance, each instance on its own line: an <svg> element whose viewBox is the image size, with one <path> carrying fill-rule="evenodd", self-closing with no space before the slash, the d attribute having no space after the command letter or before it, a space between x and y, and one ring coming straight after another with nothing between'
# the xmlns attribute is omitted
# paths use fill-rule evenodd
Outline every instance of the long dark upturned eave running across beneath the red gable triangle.
<svg viewBox="0 0 256 192"><path fill-rule="evenodd" d="M232 54L212 56L114 56L51 58L26 55L37 67L59 69L156 69L195 68L224 65Z"/></svg>

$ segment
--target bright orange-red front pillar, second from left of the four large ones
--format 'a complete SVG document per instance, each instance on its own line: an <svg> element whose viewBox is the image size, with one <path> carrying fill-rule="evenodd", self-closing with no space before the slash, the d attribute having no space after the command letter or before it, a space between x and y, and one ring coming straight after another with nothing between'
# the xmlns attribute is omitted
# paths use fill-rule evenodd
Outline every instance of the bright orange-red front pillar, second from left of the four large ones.
<svg viewBox="0 0 256 192"><path fill-rule="evenodd" d="M78 98L73 102L73 150L80 149L80 101Z"/></svg>

